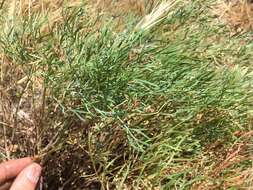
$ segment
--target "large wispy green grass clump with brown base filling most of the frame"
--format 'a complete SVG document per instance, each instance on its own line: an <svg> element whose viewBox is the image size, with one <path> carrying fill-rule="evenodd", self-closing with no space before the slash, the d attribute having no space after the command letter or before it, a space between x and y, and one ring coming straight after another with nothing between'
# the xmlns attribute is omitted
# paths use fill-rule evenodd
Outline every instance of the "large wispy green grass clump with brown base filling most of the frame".
<svg viewBox="0 0 253 190"><path fill-rule="evenodd" d="M2 157L35 156L45 189L238 186L252 54L230 54L242 36L224 46L227 29L203 11L212 2L174 3L124 30L85 6L46 31L38 12L16 18L0 35Z"/></svg>

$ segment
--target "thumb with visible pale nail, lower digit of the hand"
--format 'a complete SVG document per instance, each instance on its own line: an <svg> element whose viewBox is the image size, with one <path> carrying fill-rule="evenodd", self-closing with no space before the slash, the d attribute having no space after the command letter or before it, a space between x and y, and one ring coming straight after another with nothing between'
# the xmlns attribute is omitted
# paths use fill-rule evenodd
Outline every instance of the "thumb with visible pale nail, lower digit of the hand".
<svg viewBox="0 0 253 190"><path fill-rule="evenodd" d="M34 163L27 166L15 179L10 190L35 190L41 170L39 164Z"/></svg>

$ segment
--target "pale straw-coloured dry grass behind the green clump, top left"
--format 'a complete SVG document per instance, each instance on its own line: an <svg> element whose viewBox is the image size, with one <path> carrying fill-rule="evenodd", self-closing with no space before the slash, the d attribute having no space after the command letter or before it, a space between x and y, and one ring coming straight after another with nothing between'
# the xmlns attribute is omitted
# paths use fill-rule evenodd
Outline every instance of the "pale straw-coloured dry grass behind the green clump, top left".
<svg viewBox="0 0 253 190"><path fill-rule="evenodd" d="M48 22L46 26L42 26L42 31L46 32L56 22L61 22L61 13L64 7L78 7L85 6L89 11L90 16L101 17L105 15L107 18L112 17L116 27L120 29L125 24L124 17L132 14L135 16L144 16L152 7L156 6L157 0L7 0L5 6L9 12L10 20L18 16L30 17L33 13L40 13L47 16Z"/></svg>

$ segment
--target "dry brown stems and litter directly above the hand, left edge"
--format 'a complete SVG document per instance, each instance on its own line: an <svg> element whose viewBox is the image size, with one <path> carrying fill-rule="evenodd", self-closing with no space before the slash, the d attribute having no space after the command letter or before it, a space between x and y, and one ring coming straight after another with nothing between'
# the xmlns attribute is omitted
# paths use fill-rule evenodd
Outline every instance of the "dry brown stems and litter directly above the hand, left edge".
<svg viewBox="0 0 253 190"><path fill-rule="evenodd" d="M27 76L27 71L2 57L0 80L1 134L5 140L5 159L19 149L20 156L35 155L39 126L37 116L41 113L43 88L39 78ZM30 145L29 145L30 144ZM31 147L27 148L27 147Z"/></svg>

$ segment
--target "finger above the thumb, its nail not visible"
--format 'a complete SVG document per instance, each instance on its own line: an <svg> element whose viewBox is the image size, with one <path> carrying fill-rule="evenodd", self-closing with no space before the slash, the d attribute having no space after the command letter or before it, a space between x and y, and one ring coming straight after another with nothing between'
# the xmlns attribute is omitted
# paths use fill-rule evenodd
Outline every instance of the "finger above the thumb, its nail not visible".
<svg viewBox="0 0 253 190"><path fill-rule="evenodd" d="M31 158L22 158L0 164L0 184L8 179L16 177L26 166L31 163Z"/></svg>

